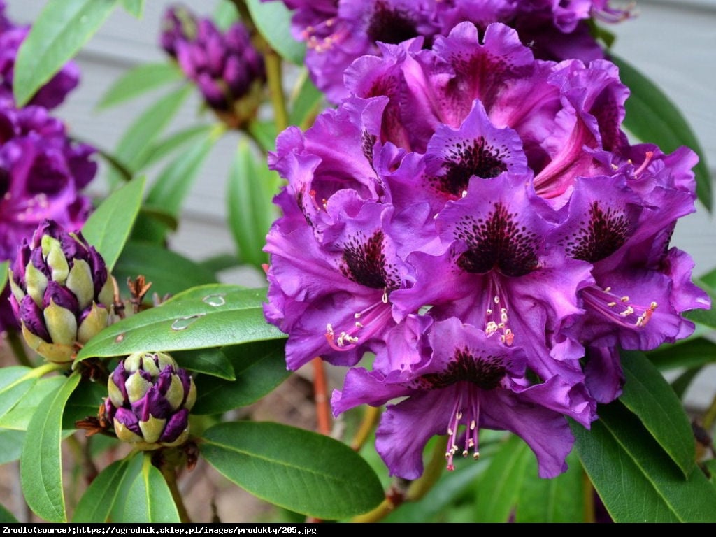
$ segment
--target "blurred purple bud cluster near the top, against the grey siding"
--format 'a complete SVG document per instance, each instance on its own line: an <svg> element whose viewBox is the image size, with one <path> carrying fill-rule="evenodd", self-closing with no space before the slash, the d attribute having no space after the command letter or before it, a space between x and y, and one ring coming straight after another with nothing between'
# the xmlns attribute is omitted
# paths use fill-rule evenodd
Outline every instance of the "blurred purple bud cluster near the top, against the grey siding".
<svg viewBox="0 0 716 537"><path fill-rule="evenodd" d="M221 32L211 19L200 18L182 5L171 6L164 14L160 44L197 84L213 110L240 116L253 113L256 103L245 112L235 110L236 104L253 101L251 94L263 85L266 70L241 22Z"/></svg>

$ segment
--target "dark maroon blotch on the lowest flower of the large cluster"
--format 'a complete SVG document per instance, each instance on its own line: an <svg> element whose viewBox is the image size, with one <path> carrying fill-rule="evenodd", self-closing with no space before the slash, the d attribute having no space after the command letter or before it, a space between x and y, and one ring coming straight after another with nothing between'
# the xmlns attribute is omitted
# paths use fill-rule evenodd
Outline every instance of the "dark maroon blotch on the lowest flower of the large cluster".
<svg viewBox="0 0 716 537"><path fill-rule="evenodd" d="M503 358L494 356L475 357L467 347L455 349L455 357L445 371L424 374L415 381L416 387L440 390L457 382L471 382L482 390L493 390L505 376Z"/></svg>

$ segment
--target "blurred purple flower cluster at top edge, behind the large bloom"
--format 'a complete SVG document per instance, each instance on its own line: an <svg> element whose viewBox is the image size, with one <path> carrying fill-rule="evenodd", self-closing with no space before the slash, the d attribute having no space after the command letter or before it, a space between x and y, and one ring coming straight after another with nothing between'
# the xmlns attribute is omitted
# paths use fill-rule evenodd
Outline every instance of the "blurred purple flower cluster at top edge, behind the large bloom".
<svg viewBox="0 0 716 537"><path fill-rule="evenodd" d="M274 0L263 0L274 1ZM284 0L294 10L292 32L306 42L306 67L332 102L347 97L344 70L364 54L379 54L379 42L397 44L422 36L430 46L462 21L484 32L501 22L518 30L523 44L542 59L604 57L589 21L618 21L626 9L608 0Z"/></svg>

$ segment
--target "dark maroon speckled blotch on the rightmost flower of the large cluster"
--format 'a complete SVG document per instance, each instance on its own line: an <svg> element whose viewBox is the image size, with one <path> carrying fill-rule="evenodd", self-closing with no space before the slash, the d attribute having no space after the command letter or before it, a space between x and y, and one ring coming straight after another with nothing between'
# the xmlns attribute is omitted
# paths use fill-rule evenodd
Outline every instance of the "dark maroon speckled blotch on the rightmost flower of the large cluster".
<svg viewBox="0 0 716 537"><path fill-rule="evenodd" d="M611 208L605 211L595 201L589 208L589 221L582 221L579 231L561 243L570 257L595 263L621 248L631 228L627 215Z"/></svg>

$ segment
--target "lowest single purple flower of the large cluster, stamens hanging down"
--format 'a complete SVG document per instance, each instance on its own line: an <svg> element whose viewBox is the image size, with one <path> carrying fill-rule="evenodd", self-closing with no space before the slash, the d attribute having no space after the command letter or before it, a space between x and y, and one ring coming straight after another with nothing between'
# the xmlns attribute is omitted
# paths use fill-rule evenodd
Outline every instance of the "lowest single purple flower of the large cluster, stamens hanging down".
<svg viewBox="0 0 716 537"><path fill-rule="evenodd" d="M519 347L451 318L437 321L422 342L427 355L409 374L350 369L344 387L335 391L335 414L357 405L388 405L376 431L376 448L390 475L416 479L422 474L422 451L434 435L448 435L445 458L480 455L480 429L509 430L535 453L539 475L551 478L566 470L574 437L566 416L586 427L596 405L584 387L552 377L529 385L526 356Z"/></svg>

